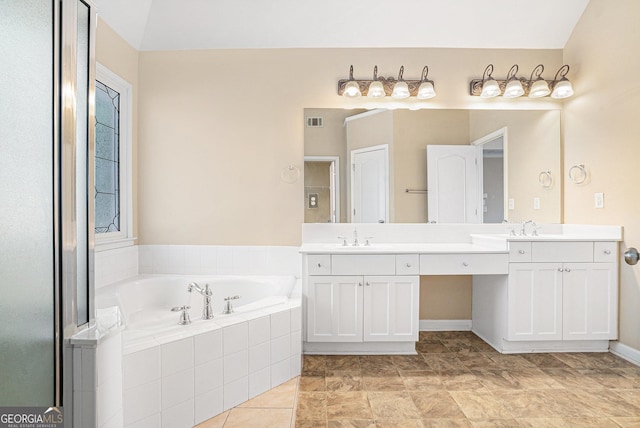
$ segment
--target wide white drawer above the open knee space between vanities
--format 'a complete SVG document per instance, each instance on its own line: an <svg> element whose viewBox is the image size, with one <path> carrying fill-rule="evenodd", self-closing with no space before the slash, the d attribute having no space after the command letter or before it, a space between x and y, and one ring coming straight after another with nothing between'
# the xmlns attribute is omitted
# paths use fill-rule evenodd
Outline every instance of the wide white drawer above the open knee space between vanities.
<svg viewBox="0 0 640 428"><path fill-rule="evenodd" d="M502 275L509 272L508 254L421 254L421 275Z"/></svg>

